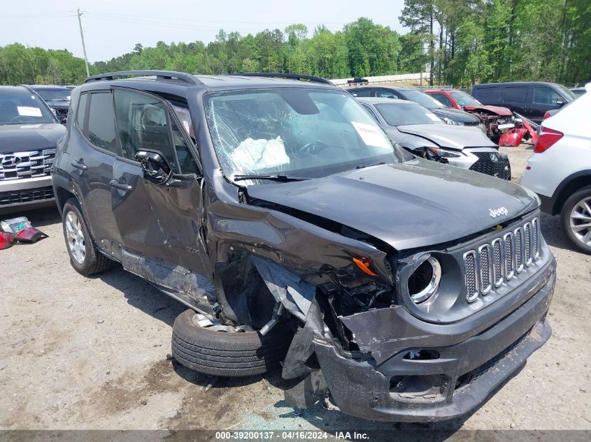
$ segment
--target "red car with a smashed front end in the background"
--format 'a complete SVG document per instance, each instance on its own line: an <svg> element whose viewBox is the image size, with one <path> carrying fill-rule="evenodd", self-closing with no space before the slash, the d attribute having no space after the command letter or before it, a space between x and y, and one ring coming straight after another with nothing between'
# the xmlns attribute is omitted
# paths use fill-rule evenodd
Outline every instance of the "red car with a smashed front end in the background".
<svg viewBox="0 0 591 442"><path fill-rule="evenodd" d="M513 112L500 106L483 105L476 98L469 96L464 91L457 89L438 89L425 91L437 101L444 105L465 110L480 118L486 127L486 134L489 138L498 142L499 137L509 129L515 127Z"/></svg>

